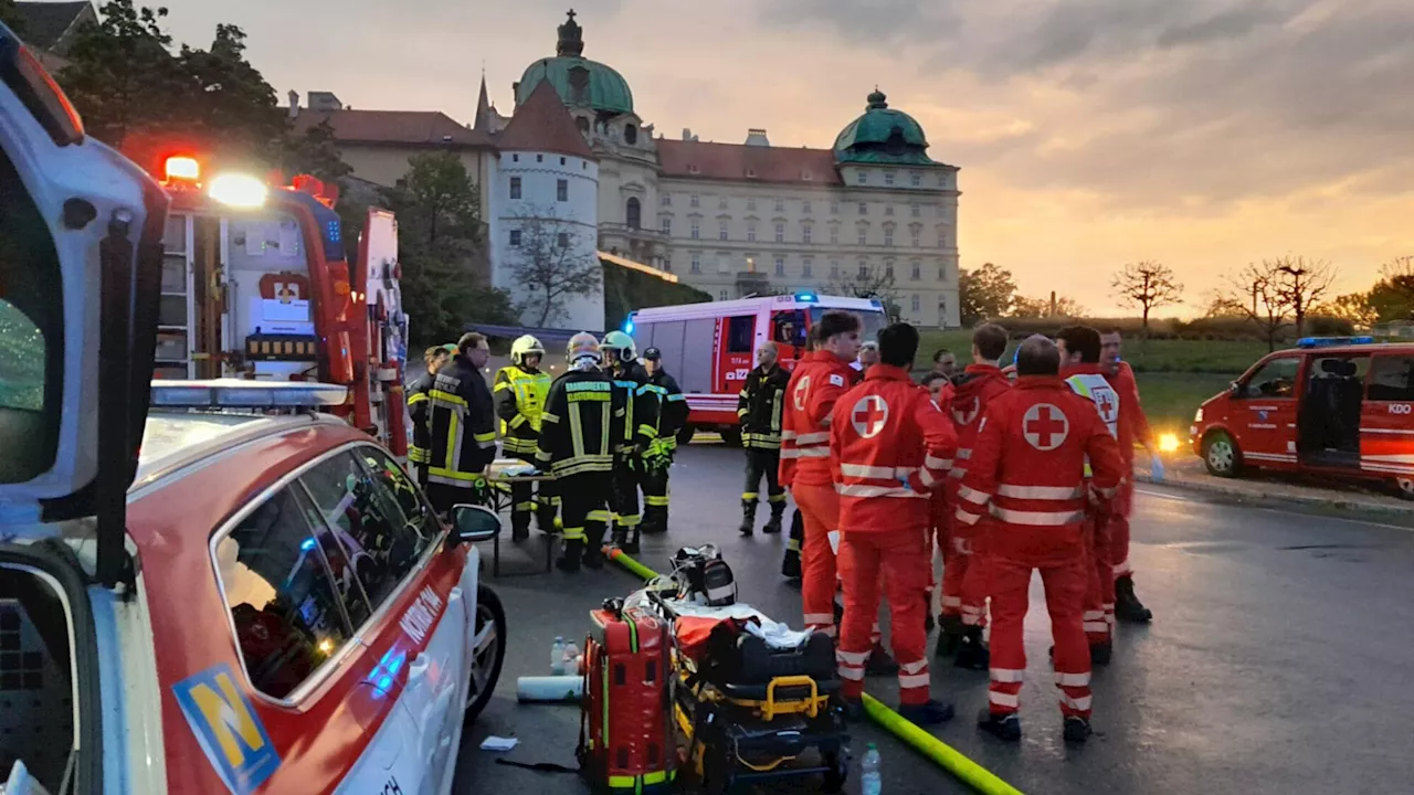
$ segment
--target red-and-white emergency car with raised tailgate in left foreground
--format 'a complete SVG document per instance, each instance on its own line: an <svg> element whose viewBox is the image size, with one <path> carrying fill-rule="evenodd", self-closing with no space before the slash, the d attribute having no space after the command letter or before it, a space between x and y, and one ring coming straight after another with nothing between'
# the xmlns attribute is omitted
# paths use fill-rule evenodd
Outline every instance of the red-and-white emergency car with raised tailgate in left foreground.
<svg viewBox="0 0 1414 795"><path fill-rule="evenodd" d="M317 413L349 385L153 381L168 202L0 24L0 791L445 794L499 519Z"/></svg>

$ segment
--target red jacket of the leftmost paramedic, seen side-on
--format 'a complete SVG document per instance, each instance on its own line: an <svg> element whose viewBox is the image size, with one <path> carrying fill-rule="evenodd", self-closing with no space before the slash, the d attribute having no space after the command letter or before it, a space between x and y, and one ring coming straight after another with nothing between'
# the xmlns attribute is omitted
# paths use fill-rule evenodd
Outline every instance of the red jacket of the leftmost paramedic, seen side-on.
<svg viewBox="0 0 1414 795"><path fill-rule="evenodd" d="M829 351L800 358L781 417L781 485L830 485L830 412L854 371Z"/></svg>

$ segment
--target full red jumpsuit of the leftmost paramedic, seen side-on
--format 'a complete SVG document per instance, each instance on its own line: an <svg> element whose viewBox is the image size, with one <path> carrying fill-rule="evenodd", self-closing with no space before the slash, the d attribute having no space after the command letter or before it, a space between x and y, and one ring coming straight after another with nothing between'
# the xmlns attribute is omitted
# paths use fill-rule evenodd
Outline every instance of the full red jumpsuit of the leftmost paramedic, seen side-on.
<svg viewBox="0 0 1414 795"><path fill-rule="evenodd" d="M786 386L781 417L781 484L795 494L805 525L800 545L800 603L807 629L836 635L834 550L840 498L830 475L830 412L854 378L848 362L829 351L800 358Z"/></svg>

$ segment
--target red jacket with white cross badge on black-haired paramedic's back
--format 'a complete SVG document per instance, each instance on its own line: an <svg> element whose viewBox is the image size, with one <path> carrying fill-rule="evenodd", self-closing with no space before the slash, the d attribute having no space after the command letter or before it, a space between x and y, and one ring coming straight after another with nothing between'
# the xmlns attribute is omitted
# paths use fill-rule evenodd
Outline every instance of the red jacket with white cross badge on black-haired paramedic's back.
<svg viewBox="0 0 1414 795"><path fill-rule="evenodd" d="M908 371L877 364L834 406L830 468L840 529L885 532L929 526L928 492L953 465L957 433Z"/></svg>

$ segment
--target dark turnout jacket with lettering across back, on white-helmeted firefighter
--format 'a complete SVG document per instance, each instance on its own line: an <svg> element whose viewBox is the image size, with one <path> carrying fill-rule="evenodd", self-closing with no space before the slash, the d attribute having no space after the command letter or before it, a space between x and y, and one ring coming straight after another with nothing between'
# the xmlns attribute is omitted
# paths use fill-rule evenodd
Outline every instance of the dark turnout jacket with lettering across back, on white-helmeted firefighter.
<svg viewBox="0 0 1414 795"><path fill-rule="evenodd" d="M554 379L540 417L536 463L556 477L612 472L626 414L614 376L571 369Z"/></svg>

